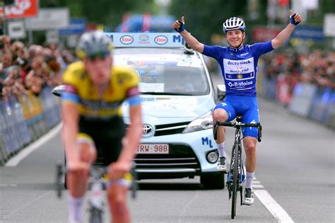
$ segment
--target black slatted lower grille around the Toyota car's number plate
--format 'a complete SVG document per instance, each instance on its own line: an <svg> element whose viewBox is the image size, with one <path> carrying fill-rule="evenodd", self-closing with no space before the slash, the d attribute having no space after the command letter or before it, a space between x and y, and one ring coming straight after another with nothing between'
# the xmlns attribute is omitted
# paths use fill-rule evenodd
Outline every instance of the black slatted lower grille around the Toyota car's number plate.
<svg viewBox="0 0 335 223"><path fill-rule="evenodd" d="M193 169L200 171L199 160L191 147L181 144L170 144L169 154L137 154L134 159L136 169Z"/></svg>

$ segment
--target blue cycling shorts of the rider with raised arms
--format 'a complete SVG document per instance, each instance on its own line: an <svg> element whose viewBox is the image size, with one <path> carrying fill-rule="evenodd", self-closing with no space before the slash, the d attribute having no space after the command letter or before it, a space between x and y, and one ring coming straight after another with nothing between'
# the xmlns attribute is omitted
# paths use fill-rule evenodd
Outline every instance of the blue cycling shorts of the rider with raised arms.
<svg viewBox="0 0 335 223"><path fill-rule="evenodd" d="M259 122L259 108L256 97L248 96L225 96L225 100L218 103L214 110L222 108L227 112L228 120L234 120L237 115L242 115L243 123ZM242 133L244 137L258 137L257 127L243 127Z"/></svg>

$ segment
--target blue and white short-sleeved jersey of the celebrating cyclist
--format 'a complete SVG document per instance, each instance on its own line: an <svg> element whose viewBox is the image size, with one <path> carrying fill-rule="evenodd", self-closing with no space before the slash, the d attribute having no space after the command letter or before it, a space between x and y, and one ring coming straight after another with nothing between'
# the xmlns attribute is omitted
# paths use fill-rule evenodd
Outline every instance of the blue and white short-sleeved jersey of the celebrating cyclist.
<svg viewBox="0 0 335 223"><path fill-rule="evenodd" d="M269 41L243 45L238 49L204 45L202 54L213 57L220 64L227 96L255 97L258 59L271 50L274 48Z"/></svg>

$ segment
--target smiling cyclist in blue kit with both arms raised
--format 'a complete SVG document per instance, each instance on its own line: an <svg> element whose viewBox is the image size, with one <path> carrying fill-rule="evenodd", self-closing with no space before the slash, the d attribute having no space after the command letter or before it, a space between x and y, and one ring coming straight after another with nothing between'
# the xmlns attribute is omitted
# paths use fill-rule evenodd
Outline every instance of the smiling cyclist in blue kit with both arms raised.
<svg viewBox="0 0 335 223"><path fill-rule="evenodd" d="M236 115L242 115L242 122L259 122L259 108L257 103L256 80L257 62L261 55L270 52L285 44L293 33L295 25L302 21L298 13L290 11L290 23L278 33L276 38L269 42L258 42L254 45L244 45L245 22L242 18L228 18L223 23L223 32L229 44L228 47L204 45L184 28L184 16L181 21L172 24L174 28L193 50L208 57L213 57L221 66L223 79L225 80L226 96L223 102L218 103L213 109L213 123L230 122ZM256 168L256 143L257 128L247 127L243 129L243 145L245 147L247 168L247 181L245 185L245 205L254 202L252 179ZM218 127L216 139L218 148L218 171L227 171L225 164L225 127Z"/></svg>

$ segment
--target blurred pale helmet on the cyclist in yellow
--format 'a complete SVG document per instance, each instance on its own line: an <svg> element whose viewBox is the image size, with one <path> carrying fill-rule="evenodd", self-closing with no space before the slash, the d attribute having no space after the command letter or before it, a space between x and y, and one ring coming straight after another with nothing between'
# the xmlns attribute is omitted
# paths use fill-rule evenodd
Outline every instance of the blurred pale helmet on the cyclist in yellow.
<svg viewBox="0 0 335 223"><path fill-rule="evenodd" d="M96 30L81 35L76 53L79 58L84 59L94 55L108 54L112 52L112 49L110 38L102 31Z"/></svg>

